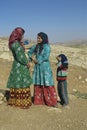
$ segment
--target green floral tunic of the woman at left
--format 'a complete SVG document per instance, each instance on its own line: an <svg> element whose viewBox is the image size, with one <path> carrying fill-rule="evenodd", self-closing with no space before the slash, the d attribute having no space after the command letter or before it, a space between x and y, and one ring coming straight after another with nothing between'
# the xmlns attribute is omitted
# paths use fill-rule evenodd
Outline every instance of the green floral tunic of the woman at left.
<svg viewBox="0 0 87 130"><path fill-rule="evenodd" d="M27 68L28 60L22 46L16 42L12 44L11 51L14 57L12 69L7 82L7 88L26 88L32 83L29 70Z"/></svg>

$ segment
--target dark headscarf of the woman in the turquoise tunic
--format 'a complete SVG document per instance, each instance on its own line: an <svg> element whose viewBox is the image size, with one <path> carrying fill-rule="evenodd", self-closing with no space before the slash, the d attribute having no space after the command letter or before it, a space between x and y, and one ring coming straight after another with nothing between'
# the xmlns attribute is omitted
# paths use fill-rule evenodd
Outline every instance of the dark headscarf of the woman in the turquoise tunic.
<svg viewBox="0 0 87 130"><path fill-rule="evenodd" d="M42 52L42 50L43 50L43 44L48 44L48 36L47 36L47 34L44 33L44 32L38 33L37 36L41 37L42 43L38 43L38 44L36 45L36 48L35 48L35 51L34 51L34 52L35 52L35 53L39 52L39 54L40 54L40 53Z"/></svg>

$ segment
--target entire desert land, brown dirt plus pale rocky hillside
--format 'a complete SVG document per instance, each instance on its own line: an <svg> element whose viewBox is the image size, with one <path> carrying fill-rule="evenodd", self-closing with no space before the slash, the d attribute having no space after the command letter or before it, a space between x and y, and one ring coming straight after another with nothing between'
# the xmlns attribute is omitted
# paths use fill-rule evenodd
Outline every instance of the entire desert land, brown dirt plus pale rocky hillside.
<svg viewBox="0 0 87 130"><path fill-rule="evenodd" d="M7 39L0 41L0 93L5 93L11 70L12 55L8 50ZM4 46L3 46L4 45ZM3 46L3 47L2 47ZM31 46L31 44L29 45ZM27 49L26 49L27 52ZM0 130L87 130L87 45L69 47L51 45L50 62L56 82L56 55L64 53L69 59L68 96L69 108L33 105L30 109L7 106L6 98L0 104ZM33 64L30 72L32 76ZM33 85L31 85L33 96Z"/></svg>

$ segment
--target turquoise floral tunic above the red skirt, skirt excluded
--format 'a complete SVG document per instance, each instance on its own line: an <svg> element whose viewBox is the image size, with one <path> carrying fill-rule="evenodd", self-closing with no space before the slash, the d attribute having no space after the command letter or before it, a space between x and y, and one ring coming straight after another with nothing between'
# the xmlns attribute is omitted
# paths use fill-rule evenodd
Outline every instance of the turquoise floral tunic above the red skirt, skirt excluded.
<svg viewBox="0 0 87 130"><path fill-rule="evenodd" d="M34 54L35 47L36 45L32 46L28 52L29 60ZM38 63L35 64L34 66L34 72L33 72L33 83L35 85L54 86L54 80L51 65L49 62L49 56L50 56L49 44L43 45L43 50L40 54L38 51L35 54L36 60L38 61Z"/></svg>

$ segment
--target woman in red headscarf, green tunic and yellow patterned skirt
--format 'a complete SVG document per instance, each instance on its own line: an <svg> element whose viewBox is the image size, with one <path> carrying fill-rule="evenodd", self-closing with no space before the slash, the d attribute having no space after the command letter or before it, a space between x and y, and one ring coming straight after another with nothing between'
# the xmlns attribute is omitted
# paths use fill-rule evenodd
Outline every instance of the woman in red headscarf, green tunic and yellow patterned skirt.
<svg viewBox="0 0 87 130"><path fill-rule="evenodd" d="M10 89L8 105L29 108L32 104L30 92L32 79L29 73L29 62L21 44L24 33L24 29L17 27L9 37L9 48L14 61L7 82L7 88Z"/></svg>

